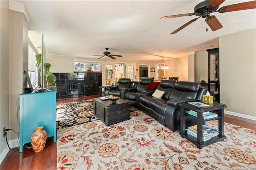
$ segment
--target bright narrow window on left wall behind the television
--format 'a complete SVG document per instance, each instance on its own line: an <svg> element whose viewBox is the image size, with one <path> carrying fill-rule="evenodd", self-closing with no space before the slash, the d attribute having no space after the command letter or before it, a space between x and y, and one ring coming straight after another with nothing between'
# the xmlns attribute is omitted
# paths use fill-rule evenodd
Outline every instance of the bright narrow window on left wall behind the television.
<svg viewBox="0 0 256 170"><path fill-rule="evenodd" d="M28 75L33 89L38 86L38 69L36 67L36 53L34 45L30 42L28 45ZM28 85L29 86L29 85Z"/></svg>

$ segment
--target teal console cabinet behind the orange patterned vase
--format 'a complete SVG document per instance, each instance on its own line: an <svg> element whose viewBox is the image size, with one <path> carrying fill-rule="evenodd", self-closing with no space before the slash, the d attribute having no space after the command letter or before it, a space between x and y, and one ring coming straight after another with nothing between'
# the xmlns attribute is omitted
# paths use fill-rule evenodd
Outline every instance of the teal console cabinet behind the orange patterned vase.
<svg viewBox="0 0 256 170"><path fill-rule="evenodd" d="M20 152L39 126L56 142L56 91L20 94Z"/></svg>

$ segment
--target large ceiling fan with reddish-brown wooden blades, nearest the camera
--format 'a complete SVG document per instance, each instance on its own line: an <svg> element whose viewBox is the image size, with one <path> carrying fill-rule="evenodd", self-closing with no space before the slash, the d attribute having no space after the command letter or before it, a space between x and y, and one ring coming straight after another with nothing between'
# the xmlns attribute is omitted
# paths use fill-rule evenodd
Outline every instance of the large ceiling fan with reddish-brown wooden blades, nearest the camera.
<svg viewBox="0 0 256 170"><path fill-rule="evenodd" d="M205 22L207 25L211 28L212 31L219 30L223 26L220 24L219 20L214 15L210 15L213 12L232 12L232 11L239 11L239 10L248 10L248 9L254 9L256 8L256 0L250 1L250 2L242 2L239 4L232 4L227 6L222 6L220 9L219 6L222 4L225 0L205 0L203 2L200 2L197 4L194 8L194 12L188 13L188 14L178 14L178 15L172 15L172 16L164 16L160 18L160 20L168 19L168 18L176 18L181 16L199 16L198 18L206 18ZM195 18L193 20L190 20L171 34L176 34L192 22L195 22L198 18ZM208 31L208 28L206 28L206 31Z"/></svg>

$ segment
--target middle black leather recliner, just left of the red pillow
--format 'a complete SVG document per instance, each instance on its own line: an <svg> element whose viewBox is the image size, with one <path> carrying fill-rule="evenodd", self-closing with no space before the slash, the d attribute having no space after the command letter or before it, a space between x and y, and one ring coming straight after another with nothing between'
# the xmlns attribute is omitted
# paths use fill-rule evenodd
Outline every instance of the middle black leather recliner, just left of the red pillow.
<svg viewBox="0 0 256 170"><path fill-rule="evenodd" d="M153 82L153 79L140 79L140 82L138 83L137 88L126 88L124 99L127 101L130 101L130 105L135 106L139 108L139 106L136 106L136 93L142 92L147 89L148 85Z"/></svg>

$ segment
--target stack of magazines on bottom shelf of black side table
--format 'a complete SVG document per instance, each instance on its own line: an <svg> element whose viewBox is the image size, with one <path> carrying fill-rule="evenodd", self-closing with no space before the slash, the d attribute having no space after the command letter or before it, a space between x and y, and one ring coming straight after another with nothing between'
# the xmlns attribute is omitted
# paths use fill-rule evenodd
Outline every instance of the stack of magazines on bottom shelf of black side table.
<svg viewBox="0 0 256 170"><path fill-rule="evenodd" d="M197 126L194 125L192 127L188 127L188 134L196 137L196 130L197 130ZM205 125L203 125L203 141L205 142L206 140L211 139L214 136L218 136L219 131L214 130L213 128L207 127Z"/></svg>

